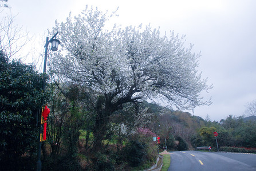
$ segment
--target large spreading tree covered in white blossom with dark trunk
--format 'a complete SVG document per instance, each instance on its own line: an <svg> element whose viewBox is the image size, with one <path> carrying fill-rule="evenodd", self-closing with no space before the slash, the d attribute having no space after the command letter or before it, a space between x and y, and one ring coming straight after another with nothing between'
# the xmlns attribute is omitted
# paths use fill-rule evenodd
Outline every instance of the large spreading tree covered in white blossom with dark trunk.
<svg viewBox="0 0 256 171"><path fill-rule="evenodd" d="M157 97L180 109L210 104L200 97L211 88L196 69L200 55L191 52L192 46L184 48L183 37L160 36L150 25L107 30L113 15L86 7L53 28L62 50L50 59L53 71L97 97L95 146L101 146L109 117L125 103Z"/></svg>

